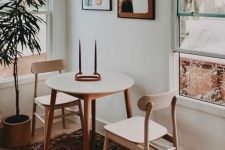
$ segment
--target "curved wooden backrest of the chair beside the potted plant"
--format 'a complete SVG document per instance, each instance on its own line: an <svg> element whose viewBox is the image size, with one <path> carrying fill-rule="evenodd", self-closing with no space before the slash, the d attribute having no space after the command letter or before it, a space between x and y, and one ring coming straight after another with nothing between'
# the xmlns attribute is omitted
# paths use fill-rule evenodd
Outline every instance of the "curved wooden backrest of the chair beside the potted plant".
<svg viewBox="0 0 225 150"><path fill-rule="evenodd" d="M61 71L64 69L64 63L62 59L35 62L30 69L33 74Z"/></svg>

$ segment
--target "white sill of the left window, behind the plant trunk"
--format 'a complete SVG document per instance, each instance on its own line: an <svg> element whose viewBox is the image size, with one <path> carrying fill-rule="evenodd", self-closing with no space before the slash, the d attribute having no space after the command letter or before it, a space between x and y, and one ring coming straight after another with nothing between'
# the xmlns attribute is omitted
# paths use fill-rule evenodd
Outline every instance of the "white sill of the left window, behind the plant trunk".
<svg viewBox="0 0 225 150"><path fill-rule="evenodd" d="M39 82L44 81L50 76L52 76L54 73L46 73L46 74L41 74L39 75ZM19 76L19 86L21 85L26 85L26 84L32 84L34 83L34 75L29 74L29 75L23 75ZM7 89L7 88L12 88L14 87L14 79L8 78L5 80L0 80L0 90Z"/></svg>

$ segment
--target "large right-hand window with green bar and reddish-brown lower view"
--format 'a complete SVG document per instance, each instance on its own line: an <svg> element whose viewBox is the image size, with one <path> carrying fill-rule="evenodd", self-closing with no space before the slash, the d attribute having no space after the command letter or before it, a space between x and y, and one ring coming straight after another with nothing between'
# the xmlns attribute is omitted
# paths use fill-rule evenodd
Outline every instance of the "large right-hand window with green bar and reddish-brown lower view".
<svg viewBox="0 0 225 150"><path fill-rule="evenodd" d="M225 106L225 0L177 0L179 94Z"/></svg>

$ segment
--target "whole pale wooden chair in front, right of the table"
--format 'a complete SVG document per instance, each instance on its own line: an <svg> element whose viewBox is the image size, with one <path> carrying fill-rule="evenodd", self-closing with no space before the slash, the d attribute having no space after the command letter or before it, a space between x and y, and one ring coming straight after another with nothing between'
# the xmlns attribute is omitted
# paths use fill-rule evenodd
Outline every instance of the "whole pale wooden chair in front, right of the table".
<svg viewBox="0 0 225 150"><path fill-rule="evenodd" d="M173 144L172 147L166 149L177 150L175 105L175 92L141 97L138 101L138 107L146 112L145 117L132 117L106 125L104 150L108 149L109 139L132 150L149 150L149 147L154 147L157 150L165 149L165 147L154 144L154 140L159 138L163 138ZM150 120L152 110L161 110L169 106L171 106L172 135L167 133L165 127Z"/></svg>

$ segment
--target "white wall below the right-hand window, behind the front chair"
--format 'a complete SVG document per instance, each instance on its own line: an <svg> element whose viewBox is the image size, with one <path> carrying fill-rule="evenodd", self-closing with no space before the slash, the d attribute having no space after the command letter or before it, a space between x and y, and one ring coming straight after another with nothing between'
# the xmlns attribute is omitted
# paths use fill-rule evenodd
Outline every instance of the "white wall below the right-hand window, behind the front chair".
<svg viewBox="0 0 225 150"><path fill-rule="evenodd" d="M178 100L178 103L183 101L182 99ZM202 111L199 108L205 104L191 103L192 106L197 107L193 109L193 107L184 106L184 104L178 104L177 107L178 140L181 150L224 150L225 118L213 113L207 113L206 111L215 109L212 106L209 106L208 109L205 107L205 110ZM224 114L224 110L220 111L220 113ZM169 118L169 110L154 114L155 120L171 129Z"/></svg>

